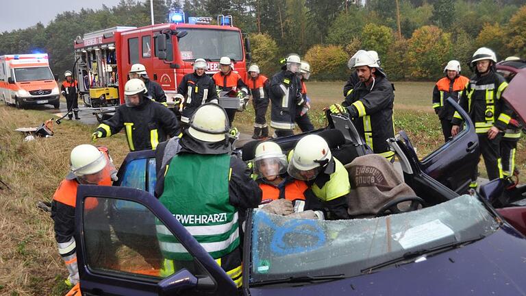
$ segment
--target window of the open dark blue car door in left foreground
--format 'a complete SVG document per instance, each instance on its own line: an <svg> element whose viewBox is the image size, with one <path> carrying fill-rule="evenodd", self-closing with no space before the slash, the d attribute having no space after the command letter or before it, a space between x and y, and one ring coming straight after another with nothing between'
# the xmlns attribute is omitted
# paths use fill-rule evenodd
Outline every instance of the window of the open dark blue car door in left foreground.
<svg viewBox="0 0 526 296"><path fill-rule="evenodd" d="M153 198L153 197L152 197ZM82 217L84 259L88 269L134 280L158 282L181 269L205 274L201 265L168 228L144 205L136 201L86 197ZM88 205L89 204L89 205ZM168 260L160 251L160 241L171 240L188 258Z"/></svg>

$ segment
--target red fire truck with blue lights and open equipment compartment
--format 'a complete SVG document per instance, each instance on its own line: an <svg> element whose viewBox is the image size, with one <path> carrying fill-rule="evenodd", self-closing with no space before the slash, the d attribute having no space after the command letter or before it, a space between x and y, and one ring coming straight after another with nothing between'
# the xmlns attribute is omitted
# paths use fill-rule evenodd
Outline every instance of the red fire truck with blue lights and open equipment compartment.
<svg viewBox="0 0 526 296"><path fill-rule="evenodd" d="M182 77L192 73L193 62L204 58L208 75L219 71L219 60L228 56L241 77L247 72L250 45L231 16L188 18L172 14L173 23L146 27L112 27L75 40L75 73L84 104L101 121L124 103L124 84L132 64L144 64L150 79L158 82L167 101L177 94Z"/></svg>

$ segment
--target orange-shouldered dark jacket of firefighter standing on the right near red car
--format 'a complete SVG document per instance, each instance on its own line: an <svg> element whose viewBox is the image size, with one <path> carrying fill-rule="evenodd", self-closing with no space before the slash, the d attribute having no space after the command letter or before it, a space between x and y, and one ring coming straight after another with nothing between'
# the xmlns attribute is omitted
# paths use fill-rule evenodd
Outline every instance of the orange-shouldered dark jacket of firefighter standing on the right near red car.
<svg viewBox="0 0 526 296"><path fill-rule="evenodd" d="M468 82L469 78L462 75L455 77L455 79L442 77L442 79L436 82L433 88L433 108L436 114L438 114L439 119L448 119L450 121L453 119L455 108L449 103L445 103L445 100L451 97L455 101L458 101Z"/></svg>

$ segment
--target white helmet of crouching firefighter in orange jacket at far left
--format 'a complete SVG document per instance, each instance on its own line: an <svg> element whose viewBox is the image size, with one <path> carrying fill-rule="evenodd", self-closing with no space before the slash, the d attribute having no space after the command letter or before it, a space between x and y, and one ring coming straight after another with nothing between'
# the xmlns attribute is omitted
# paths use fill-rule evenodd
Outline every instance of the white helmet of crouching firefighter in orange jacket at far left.
<svg viewBox="0 0 526 296"><path fill-rule="evenodd" d="M104 153L88 144L78 145L71 150L70 169L76 177L99 173L106 166Z"/></svg>

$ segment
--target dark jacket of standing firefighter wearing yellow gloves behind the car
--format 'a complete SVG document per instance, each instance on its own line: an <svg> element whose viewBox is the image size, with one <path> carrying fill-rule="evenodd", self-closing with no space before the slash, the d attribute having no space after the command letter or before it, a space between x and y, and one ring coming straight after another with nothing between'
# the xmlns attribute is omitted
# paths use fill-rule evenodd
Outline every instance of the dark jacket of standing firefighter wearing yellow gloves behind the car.
<svg viewBox="0 0 526 296"><path fill-rule="evenodd" d="M359 82L350 95L345 98L342 106L355 108L358 119L355 119L356 130L365 139L366 144L375 153L392 158L386 142L395 136L395 125L392 119L392 106L395 93L392 84L386 77L378 75L371 85Z"/></svg>

